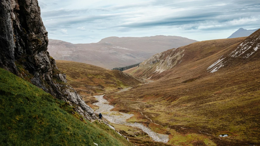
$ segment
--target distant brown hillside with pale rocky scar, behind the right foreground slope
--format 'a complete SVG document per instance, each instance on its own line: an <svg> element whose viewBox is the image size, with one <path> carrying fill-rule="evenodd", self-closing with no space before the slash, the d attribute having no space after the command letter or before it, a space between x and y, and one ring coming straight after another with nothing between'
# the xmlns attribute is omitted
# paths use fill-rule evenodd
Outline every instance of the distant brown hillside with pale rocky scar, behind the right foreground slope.
<svg viewBox="0 0 260 146"><path fill-rule="evenodd" d="M131 68L124 72L141 78L150 78L151 80L161 78L169 73L172 68L180 68L184 65L202 60L211 55L224 53L223 50L243 41L244 38L207 40L192 43L187 46L170 49L159 54L155 54L149 59L139 64L138 68ZM198 64L196 68L202 64ZM203 71L203 70L201 70ZM191 72L192 74L194 72ZM182 73L183 74L183 73ZM187 74L190 74L187 72Z"/></svg>

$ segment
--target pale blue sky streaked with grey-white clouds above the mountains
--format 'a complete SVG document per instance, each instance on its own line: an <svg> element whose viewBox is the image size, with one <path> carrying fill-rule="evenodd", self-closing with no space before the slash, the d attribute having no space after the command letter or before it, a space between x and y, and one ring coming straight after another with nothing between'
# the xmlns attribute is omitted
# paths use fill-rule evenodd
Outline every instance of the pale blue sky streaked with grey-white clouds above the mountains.
<svg viewBox="0 0 260 146"><path fill-rule="evenodd" d="M260 28L259 0L38 0L51 39L96 43L109 36L227 38Z"/></svg>

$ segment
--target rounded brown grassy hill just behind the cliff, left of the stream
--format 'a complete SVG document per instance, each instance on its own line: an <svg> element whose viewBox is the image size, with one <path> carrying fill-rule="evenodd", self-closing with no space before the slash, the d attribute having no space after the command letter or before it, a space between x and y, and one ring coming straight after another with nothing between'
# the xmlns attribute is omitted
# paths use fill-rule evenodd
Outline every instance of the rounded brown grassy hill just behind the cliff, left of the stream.
<svg viewBox="0 0 260 146"><path fill-rule="evenodd" d="M94 95L112 90L119 91L124 87L136 86L144 82L118 70L73 61L56 61L56 63L59 69L66 72L68 83L80 93L88 104L96 102L92 97Z"/></svg>

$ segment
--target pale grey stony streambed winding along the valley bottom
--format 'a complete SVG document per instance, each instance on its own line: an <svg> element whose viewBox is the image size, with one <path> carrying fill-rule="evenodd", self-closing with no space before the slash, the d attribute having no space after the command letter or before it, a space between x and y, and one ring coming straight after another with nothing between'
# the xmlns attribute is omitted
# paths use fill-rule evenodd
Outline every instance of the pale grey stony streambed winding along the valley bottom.
<svg viewBox="0 0 260 146"><path fill-rule="evenodd" d="M128 114L128 113L121 113L121 112L115 112L115 111L110 111L111 109L114 108L114 106L109 105L109 102L103 98L104 95L100 96L94 96L98 102L94 103L94 105L99 106L99 109L96 109L94 112L95 113L102 113L102 116L109 120L111 123L116 123L116 124L123 124L131 127L137 127L142 129L145 133L147 133L154 141L158 142L168 142L169 141L169 136L166 134L158 134L154 131L152 131L150 128L145 127L141 123L131 123L131 122L126 122L127 119L130 117L134 116L134 114Z"/></svg>

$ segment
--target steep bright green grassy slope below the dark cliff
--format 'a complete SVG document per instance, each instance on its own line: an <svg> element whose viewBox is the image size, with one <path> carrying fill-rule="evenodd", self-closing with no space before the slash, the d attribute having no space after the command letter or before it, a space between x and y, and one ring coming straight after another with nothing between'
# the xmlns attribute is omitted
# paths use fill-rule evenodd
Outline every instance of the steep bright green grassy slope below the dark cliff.
<svg viewBox="0 0 260 146"><path fill-rule="evenodd" d="M0 68L0 145L132 145L73 108Z"/></svg>

